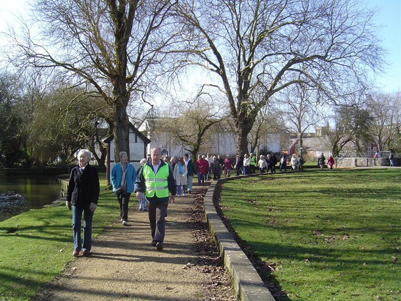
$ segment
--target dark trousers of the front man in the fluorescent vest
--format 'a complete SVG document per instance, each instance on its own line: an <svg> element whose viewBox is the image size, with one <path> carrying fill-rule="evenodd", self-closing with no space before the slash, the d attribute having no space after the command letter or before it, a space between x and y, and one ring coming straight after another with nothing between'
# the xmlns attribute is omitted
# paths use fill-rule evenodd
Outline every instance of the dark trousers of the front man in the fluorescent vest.
<svg viewBox="0 0 401 301"><path fill-rule="evenodd" d="M146 202L153 241L164 241L168 202Z"/></svg>

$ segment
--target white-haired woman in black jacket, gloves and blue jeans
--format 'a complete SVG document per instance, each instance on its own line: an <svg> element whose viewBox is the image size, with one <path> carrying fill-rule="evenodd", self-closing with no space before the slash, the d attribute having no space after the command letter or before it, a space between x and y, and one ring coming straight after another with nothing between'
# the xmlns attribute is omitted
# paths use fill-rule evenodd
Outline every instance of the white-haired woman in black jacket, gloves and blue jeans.
<svg viewBox="0 0 401 301"><path fill-rule="evenodd" d="M92 154L88 149L78 153L78 166L71 170L68 182L66 206L72 210L72 232L74 241L73 256L78 256L81 249L84 256L91 255L92 218L99 199L99 176L90 166ZM81 218L84 214L84 239L81 243Z"/></svg>

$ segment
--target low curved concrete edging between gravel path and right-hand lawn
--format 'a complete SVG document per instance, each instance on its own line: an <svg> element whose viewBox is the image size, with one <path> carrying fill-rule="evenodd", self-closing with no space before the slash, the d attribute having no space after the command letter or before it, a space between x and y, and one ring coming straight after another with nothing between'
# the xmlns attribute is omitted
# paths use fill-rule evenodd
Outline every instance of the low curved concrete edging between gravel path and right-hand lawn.
<svg viewBox="0 0 401 301"><path fill-rule="evenodd" d="M216 211L213 195L217 184L218 181L213 181L205 195L205 216L231 276L237 298L241 301L274 301L273 295Z"/></svg>

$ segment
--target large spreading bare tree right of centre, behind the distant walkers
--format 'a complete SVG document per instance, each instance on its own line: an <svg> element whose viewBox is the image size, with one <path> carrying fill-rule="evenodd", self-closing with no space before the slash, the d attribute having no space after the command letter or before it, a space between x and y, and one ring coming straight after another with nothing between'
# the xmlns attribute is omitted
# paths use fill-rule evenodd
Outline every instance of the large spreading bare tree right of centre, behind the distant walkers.
<svg viewBox="0 0 401 301"><path fill-rule="evenodd" d="M178 15L184 61L208 70L209 86L227 97L238 153L248 153L255 118L275 93L305 82L336 102L382 67L374 12L356 0L183 0ZM251 97L257 87L261 99Z"/></svg>

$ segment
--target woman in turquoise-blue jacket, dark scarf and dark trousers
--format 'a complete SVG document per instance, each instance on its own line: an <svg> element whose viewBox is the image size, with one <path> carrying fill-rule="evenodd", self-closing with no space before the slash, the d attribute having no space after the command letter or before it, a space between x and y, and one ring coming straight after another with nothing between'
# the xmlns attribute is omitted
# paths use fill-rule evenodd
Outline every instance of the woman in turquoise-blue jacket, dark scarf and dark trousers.
<svg viewBox="0 0 401 301"><path fill-rule="evenodd" d="M117 195L118 204L120 205L121 223L127 226L128 203L131 193L134 191L136 170L132 164L128 163L128 155L126 152L120 152L118 157L120 157L120 162L113 166L110 181L113 185L113 191Z"/></svg>

